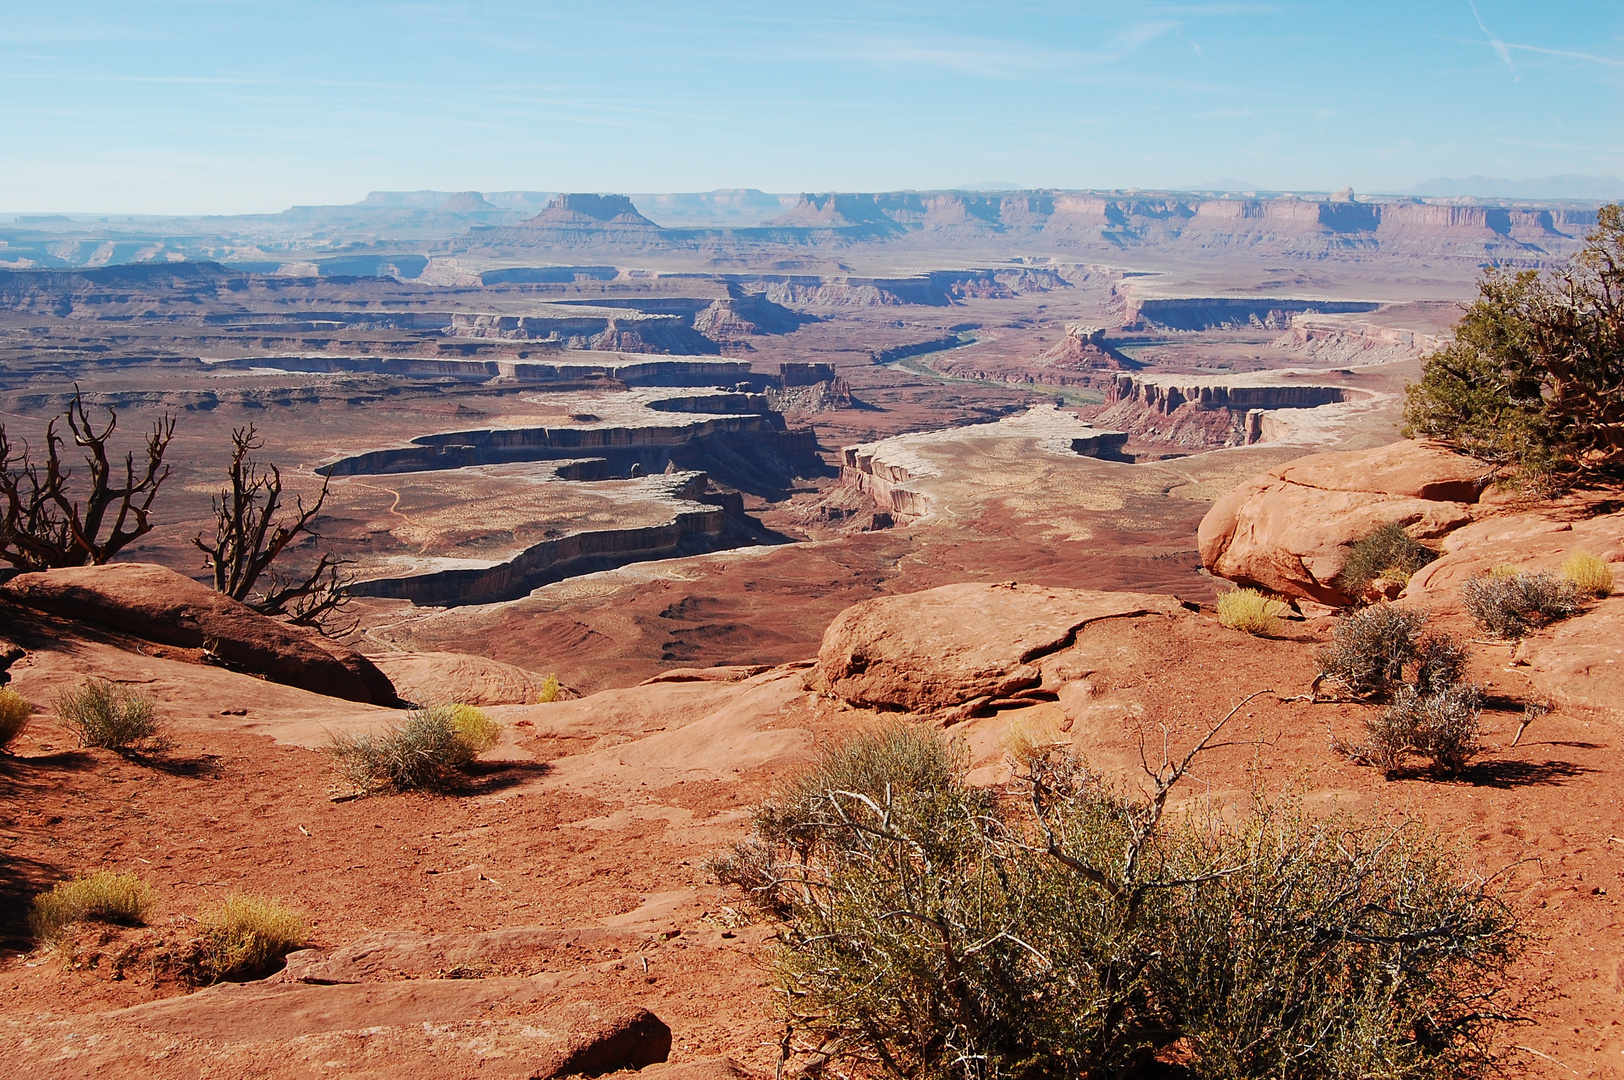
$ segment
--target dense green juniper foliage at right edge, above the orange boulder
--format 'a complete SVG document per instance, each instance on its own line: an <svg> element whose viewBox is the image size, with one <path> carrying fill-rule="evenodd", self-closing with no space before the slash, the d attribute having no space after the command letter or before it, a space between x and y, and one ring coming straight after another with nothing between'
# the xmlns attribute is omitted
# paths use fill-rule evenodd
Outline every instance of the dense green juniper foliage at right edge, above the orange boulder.
<svg viewBox="0 0 1624 1080"><path fill-rule="evenodd" d="M1523 479L1624 476L1624 206L1562 270L1484 273L1410 387L1405 434Z"/></svg>

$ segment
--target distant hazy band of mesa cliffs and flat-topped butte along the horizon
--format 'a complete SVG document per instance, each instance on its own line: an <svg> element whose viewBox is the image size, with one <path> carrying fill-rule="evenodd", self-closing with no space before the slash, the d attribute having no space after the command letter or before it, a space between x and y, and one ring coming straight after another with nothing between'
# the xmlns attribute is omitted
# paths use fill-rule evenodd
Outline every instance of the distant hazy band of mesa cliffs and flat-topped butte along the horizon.
<svg viewBox="0 0 1624 1080"><path fill-rule="evenodd" d="M1121 197L1062 192L802 195L758 227L661 229L624 197L560 195L520 227L471 232L474 247L635 245L706 250L796 244L1041 242L1073 248L1244 250L1260 255L1566 257L1595 211L1423 201Z"/></svg>

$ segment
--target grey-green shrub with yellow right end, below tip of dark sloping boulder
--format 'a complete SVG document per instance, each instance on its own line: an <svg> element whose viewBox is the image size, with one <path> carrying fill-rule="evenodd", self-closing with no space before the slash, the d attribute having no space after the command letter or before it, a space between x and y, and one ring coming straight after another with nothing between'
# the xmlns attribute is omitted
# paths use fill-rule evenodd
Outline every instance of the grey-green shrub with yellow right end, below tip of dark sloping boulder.
<svg viewBox="0 0 1624 1080"><path fill-rule="evenodd" d="M450 791L461 768L495 745L500 726L466 705L435 705L406 713L382 734L335 736L328 747L339 780L357 794Z"/></svg>

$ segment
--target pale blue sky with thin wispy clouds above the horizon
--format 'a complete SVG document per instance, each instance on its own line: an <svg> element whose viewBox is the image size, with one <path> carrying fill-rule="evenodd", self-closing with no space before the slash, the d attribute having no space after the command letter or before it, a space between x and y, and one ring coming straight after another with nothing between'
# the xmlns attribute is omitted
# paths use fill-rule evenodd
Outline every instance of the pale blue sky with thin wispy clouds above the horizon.
<svg viewBox="0 0 1624 1080"><path fill-rule="evenodd" d="M1624 3L0 0L0 210L1624 175Z"/></svg>

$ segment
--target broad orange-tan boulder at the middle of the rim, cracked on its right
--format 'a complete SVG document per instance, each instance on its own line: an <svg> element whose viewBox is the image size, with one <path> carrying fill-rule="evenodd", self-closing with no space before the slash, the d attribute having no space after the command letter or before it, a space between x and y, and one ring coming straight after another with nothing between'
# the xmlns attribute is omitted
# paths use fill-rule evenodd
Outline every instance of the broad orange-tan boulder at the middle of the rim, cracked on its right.
<svg viewBox="0 0 1624 1080"><path fill-rule="evenodd" d="M1036 687L1033 663L1101 619L1174 616L1177 599L1041 585L944 585L843 611L814 684L854 705L927 711Z"/></svg>

